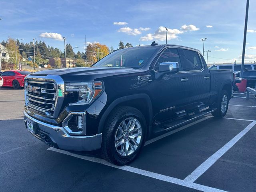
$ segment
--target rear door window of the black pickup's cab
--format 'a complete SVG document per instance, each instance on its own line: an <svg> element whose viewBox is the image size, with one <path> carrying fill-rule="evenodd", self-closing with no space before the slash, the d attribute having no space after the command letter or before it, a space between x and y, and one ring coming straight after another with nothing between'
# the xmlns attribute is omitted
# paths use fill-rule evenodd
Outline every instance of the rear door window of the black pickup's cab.
<svg viewBox="0 0 256 192"><path fill-rule="evenodd" d="M198 52L187 49L183 49L183 51L185 57L184 62L182 63L182 70L195 71L203 68Z"/></svg>

